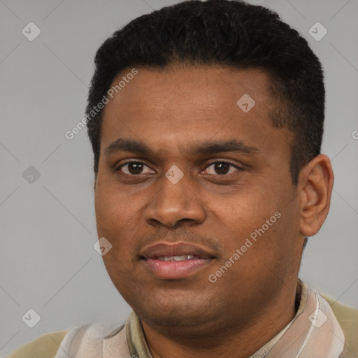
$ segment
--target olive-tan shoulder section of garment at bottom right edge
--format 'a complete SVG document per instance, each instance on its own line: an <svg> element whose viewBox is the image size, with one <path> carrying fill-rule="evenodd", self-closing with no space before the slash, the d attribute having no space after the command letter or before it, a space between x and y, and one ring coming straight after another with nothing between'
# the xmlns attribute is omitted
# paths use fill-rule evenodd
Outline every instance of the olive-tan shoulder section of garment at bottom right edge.
<svg viewBox="0 0 358 358"><path fill-rule="evenodd" d="M342 328L345 336L345 349L347 350L347 357L357 357L358 310L350 306L345 306L324 294L322 294L322 296L329 303L329 306L331 306L331 310L333 310L333 313Z"/></svg>

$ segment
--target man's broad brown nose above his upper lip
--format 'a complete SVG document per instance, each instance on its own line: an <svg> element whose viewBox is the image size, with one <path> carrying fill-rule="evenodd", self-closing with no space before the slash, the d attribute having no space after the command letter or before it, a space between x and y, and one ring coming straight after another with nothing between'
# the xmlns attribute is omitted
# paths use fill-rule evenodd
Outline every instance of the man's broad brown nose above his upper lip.
<svg viewBox="0 0 358 358"><path fill-rule="evenodd" d="M178 222L200 224L205 221L206 210L199 191L188 176L176 184L163 176L157 184L156 194L145 210L148 224L160 223L166 227L175 227Z"/></svg>

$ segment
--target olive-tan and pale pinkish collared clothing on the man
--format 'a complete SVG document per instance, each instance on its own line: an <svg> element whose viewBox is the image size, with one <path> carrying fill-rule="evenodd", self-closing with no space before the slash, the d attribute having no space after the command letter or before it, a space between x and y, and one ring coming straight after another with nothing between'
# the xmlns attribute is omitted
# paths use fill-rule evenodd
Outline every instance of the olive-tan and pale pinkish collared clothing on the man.
<svg viewBox="0 0 358 358"><path fill-rule="evenodd" d="M299 287L301 299L294 319L248 358L358 357L358 310L324 299L301 280ZM57 342L63 337L61 348L48 336L41 336L6 358L152 357L133 311L124 326L113 328L97 323L51 334Z"/></svg>

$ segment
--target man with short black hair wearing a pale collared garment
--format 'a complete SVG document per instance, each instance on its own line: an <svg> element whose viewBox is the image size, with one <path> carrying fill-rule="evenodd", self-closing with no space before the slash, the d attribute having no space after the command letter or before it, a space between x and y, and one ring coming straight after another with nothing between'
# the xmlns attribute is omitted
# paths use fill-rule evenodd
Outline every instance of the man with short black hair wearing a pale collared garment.
<svg viewBox="0 0 358 358"><path fill-rule="evenodd" d="M307 42L242 1L187 1L101 45L87 105L103 262L133 308L9 357L358 357L357 311L298 279L329 212Z"/></svg>

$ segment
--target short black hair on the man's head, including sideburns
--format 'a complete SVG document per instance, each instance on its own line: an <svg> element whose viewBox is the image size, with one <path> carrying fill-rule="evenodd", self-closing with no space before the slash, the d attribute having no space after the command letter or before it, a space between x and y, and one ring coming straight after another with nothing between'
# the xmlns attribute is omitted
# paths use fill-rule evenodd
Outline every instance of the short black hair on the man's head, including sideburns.
<svg viewBox="0 0 358 358"><path fill-rule="evenodd" d="M277 100L268 113L273 126L292 131L290 171L320 154L324 124L324 82L319 59L299 33L277 13L244 1L183 1L138 17L115 31L97 50L88 96L87 128L99 167L101 114L93 111L117 73L172 64L262 69Z"/></svg>

